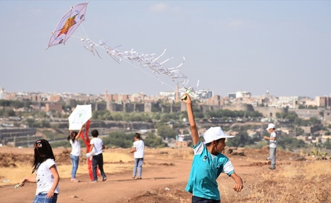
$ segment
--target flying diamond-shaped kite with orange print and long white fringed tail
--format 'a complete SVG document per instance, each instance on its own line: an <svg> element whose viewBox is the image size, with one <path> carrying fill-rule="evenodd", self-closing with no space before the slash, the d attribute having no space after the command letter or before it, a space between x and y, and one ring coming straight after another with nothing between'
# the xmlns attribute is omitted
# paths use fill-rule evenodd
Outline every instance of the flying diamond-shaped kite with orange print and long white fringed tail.
<svg viewBox="0 0 331 203"><path fill-rule="evenodd" d="M55 27L54 31L52 32L52 35L50 37L48 46L46 49L48 49L51 46L63 44L72 36L74 31L78 28L78 26L81 25L81 23L85 20L85 12L87 8L87 3L81 3L74 7L71 7L70 11L68 11L59 21L57 26ZM165 84L169 86L170 88L176 90L173 86L163 82L160 78L160 75L164 75L167 77L170 77L171 80L178 85L181 86L181 88L178 89L179 92L186 92L191 94L192 96L196 96L198 93L196 90L198 88L199 81L197 81L196 87L193 87L188 83L188 77L183 74L180 70L180 67L185 62L185 57L183 57L183 62L180 63L177 66L173 67L167 67L166 62L173 59L168 58L166 60L161 60L162 55L166 52L167 49L163 51L163 53L159 56L155 56L155 53L153 54L144 54L141 52L134 51L134 49L131 49L130 51L119 51L118 49L111 48L106 44L106 42L100 41L99 43L95 43L91 41L87 37L81 37L81 42L84 44L86 50L92 52L92 54L95 56L95 54L101 58L100 54L97 52L97 48L101 48L106 53L112 57L116 62L120 63L121 61L128 62L131 65L134 65L134 63L137 63L137 65L134 65L137 67L140 71L143 71L144 73L148 74L149 76L155 78L156 80L160 81L162 84ZM117 46L119 47L119 46ZM146 69L150 69L152 74L148 73Z"/></svg>

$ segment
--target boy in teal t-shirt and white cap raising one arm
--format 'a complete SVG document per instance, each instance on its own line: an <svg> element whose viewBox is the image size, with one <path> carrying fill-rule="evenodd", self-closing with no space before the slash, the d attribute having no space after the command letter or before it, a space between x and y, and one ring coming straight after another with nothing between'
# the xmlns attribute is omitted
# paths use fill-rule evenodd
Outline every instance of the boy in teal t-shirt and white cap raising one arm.
<svg viewBox="0 0 331 203"><path fill-rule="evenodd" d="M221 127L211 127L204 133L205 142L201 142L194 121L191 97L185 93L182 101L186 104L188 121L193 139L194 158L186 191L192 193L192 202L216 203L221 201L216 179L221 173L233 178L233 189L240 192L243 180L235 173L231 161L222 154L226 136Z"/></svg>

